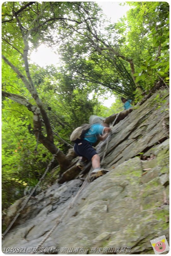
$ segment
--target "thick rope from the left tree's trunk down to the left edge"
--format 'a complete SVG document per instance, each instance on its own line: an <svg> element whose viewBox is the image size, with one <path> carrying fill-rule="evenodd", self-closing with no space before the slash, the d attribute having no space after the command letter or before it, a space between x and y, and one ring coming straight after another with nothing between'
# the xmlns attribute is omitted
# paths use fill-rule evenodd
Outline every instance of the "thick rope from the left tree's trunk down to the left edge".
<svg viewBox="0 0 171 256"><path fill-rule="evenodd" d="M59 152L59 150L57 151L57 153ZM56 153L56 154L57 154ZM48 172L51 164L54 162L55 159L55 155L53 156L51 162L48 164L48 167L46 168L46 171L44 172L43 176L40 178L40 180L38 181L37 185L33 188L33 190L31 191L30 195L26 198L25 202L23 203L23 205L21 206L21 208L17 211L16 216L14 217L14 219L12 220L12 222L9 224L9 227L5 230L5 232L2 234L2 239L5 237L5 235L9 232L9 230L11 229L12 225L14 224L14 222L16 221L16 219L18 218L18 216L20 216L21 211L24 209L24 207L26 206L26 204L28 203L29 199L31 198L32 194L35 192L36 188L39 186L40 182L44 179L46 173Z"/></svg>

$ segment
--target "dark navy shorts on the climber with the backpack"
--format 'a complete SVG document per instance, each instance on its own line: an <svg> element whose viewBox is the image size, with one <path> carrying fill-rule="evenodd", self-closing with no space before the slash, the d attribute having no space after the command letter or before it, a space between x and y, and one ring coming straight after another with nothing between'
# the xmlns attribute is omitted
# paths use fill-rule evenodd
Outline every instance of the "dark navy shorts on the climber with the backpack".
<svg viewBox="0 0 171 256"><path fill-rule="evenodd" d="M87 140L78 140L74 144L74 151L79 156L84 156L88 160L91 160L94 155L97 154L95 149L92 147L92 145Z"/></svg>

